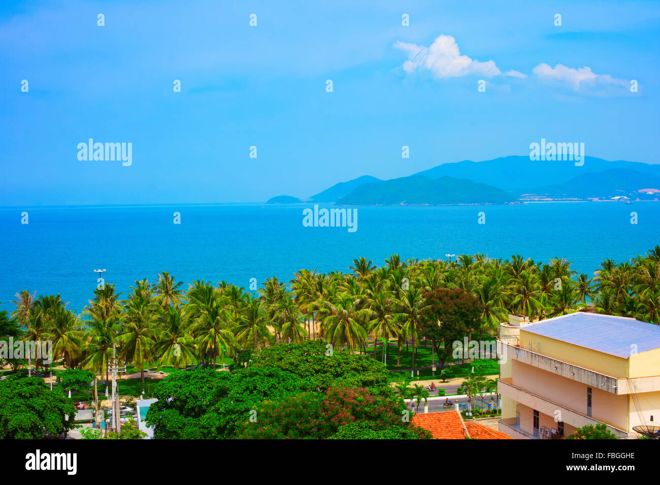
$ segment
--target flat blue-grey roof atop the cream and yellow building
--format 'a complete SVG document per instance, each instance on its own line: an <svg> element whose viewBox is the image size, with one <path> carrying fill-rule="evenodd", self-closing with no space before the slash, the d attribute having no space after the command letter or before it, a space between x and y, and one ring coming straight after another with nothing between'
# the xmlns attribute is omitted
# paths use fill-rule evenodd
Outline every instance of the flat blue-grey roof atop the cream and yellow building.
<svg viewBox="0 0 660 485"><path fill-rule="evenodd" d="M635 353L633 345L637 346L637 353L660 348L660 325L583 311L531 323L520 329L624 359Z"/></svg>

